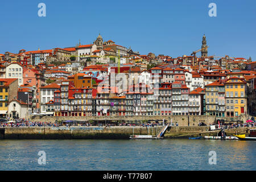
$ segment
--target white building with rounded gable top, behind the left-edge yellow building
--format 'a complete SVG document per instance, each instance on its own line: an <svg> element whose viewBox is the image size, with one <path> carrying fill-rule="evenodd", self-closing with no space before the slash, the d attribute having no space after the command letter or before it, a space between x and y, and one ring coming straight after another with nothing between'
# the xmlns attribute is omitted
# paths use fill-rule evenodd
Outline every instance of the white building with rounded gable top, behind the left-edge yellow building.
<svg viewBox="0 0 256 182"><path fill-rule="evenodd" d="M6 78L18 78L18 85L23 85L23 67L19 63L11 63L6 67Z"/></svg>

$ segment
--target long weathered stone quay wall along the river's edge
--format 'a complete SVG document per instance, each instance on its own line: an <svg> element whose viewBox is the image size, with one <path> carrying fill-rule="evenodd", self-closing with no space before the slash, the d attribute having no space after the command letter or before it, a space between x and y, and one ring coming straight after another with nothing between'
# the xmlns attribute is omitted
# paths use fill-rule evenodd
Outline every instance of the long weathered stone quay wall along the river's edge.
<svg viewBox="0 0 256 182"><path fill-rule="evenodd" d="M130 135L157 135L163 126L61 126L61 127L4 127L0 128L0 139L129 139ZM188 138L216 136L220 130L209 131L209 126L171 126L164 138ZM226 129L228 136L249 134L256 127Z"/></svg>

